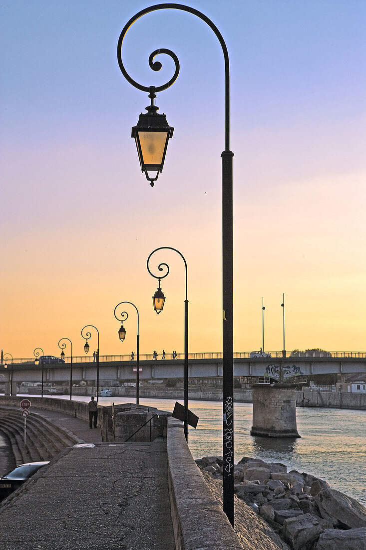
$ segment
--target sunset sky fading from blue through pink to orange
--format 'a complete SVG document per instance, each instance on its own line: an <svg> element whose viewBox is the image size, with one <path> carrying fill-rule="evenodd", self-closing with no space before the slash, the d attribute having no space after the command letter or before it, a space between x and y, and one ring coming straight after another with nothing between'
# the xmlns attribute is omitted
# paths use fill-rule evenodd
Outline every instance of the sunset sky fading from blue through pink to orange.
<svg viewBox="0 0 366 550"><path fill-rule="evenodd" d="M117 42L140 0L13 0L1 7L0 348L59 355L81 328L100 354L124 343L113 311L140 311L140 351L184 351L184 263L170 251L157 316L146 260L185 256L189 350L221 351L224 62L212 30L178 10L145 15L123 58L143 85L165 83L149 54L173 50L178 80L158 94L173 126L151 188L131 127L149 104L121 74ZM192 0L226 41L234 152L234 350L366 349L364 0ZM90 340L96 349L96 337ZM66 353L67 355L67 353Z"/></svg>

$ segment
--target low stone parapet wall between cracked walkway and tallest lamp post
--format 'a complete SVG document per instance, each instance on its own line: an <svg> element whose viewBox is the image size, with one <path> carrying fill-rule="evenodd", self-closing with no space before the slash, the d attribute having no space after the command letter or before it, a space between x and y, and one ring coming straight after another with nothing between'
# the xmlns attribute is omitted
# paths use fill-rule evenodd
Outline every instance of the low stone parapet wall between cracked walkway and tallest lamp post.
<svg viewBox="0 0 366 550"><path fill-rule="evenodd" d="M192 458L183 422L168 418L168 473L176 550L243 550Z"/></svg>

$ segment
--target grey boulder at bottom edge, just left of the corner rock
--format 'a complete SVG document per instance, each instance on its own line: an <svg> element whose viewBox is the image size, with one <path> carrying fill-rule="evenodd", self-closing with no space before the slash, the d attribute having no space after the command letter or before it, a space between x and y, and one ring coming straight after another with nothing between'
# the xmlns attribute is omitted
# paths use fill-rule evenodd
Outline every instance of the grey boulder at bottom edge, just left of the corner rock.
<svg viewBox="0 0 366 550"><path fill-rule="evenodd" d="M330 527L328 521L310 514L284 521L285 538L291 543L293 550L311 550L319 535Z"/></svg>

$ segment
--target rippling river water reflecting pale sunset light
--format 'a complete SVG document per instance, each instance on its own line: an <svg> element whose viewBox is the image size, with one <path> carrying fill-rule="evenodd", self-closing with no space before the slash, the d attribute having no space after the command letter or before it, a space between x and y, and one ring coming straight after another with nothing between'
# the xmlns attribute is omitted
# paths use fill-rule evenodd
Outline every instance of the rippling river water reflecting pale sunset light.
<svg viewBox="0 0 366 550"><path fill-rule="evenodd" d="M90 398L77 396L77 400ZM110 405L112 401L117 405L134 403L135 399L99 397L101 405ZM179 402L183 404L182 400ZM173 411L175 399L141 398L140 404ZM188 406L199 417L197 428L190 427L188 433L193 458L222 455L222 404L190 401ZM366 411L297 408L296 416L301 438L252 437L252 404L235 403L235 463L243 456L281 462L286 464L287 471L313 474L366 504Z"/></svg>

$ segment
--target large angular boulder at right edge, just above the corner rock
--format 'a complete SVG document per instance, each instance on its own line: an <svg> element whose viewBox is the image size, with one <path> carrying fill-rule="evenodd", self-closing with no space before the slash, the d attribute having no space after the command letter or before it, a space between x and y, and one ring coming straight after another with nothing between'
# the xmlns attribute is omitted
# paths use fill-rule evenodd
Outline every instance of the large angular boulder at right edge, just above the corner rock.
<svg viewBox="0 0 366 550"><path fill-rule="evenodd" d="M366 508L354 498L326 487L314 497L314 500L322 518L330 516L346 529L366 527Z"/></svg>

